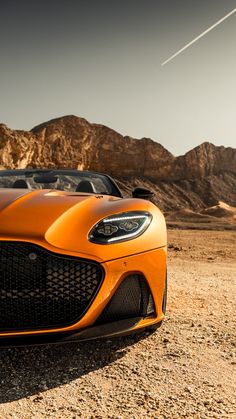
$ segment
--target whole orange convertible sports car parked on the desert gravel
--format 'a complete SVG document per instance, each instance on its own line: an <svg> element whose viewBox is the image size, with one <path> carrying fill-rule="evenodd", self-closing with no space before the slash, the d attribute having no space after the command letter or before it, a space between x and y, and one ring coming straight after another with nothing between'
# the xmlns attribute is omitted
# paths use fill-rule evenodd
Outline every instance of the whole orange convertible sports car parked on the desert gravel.
<svg viewBox="0 0 236 419"><path fill-rule="evenodd" d="M159 326L166 224L103 174L0 171L0 345L87 340Z"/></svg>

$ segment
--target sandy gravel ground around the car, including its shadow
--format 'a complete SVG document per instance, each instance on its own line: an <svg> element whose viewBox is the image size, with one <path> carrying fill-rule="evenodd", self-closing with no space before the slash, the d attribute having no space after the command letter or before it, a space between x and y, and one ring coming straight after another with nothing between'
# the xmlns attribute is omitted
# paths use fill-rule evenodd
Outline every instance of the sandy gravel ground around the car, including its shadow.
<svg viewBox="0 0 236 419"><path fill-rule="evenodd" d="M153 334L0 349L0 418L236 418L236 233L169 231Z"/></svg>

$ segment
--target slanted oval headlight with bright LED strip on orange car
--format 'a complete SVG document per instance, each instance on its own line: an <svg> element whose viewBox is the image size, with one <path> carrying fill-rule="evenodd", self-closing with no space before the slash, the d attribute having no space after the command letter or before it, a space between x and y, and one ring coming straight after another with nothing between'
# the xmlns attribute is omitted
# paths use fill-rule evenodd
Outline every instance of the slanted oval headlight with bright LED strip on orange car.
<svg viewBox="0 0 236 419"><path fill-rule="evenodd" d="M99 221L89 233L93 243L111 244L140 236L152 221L152 215L144 211L122 212Z"/></svg>

